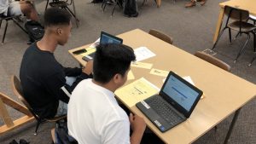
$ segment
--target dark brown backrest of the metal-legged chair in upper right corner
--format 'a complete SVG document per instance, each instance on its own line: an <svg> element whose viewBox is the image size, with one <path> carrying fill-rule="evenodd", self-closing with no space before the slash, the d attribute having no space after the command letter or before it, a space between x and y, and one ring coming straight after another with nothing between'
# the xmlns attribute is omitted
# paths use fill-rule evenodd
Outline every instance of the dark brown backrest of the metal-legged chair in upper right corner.
<svg viewBox="0 0 256 144"><path fill-rule="evenodd" d="M249 19L249 12L244 9L237 9L230 6L225 6L224 13L228 16L228 20L232 19L232 20L247 21Z"/></svg>

